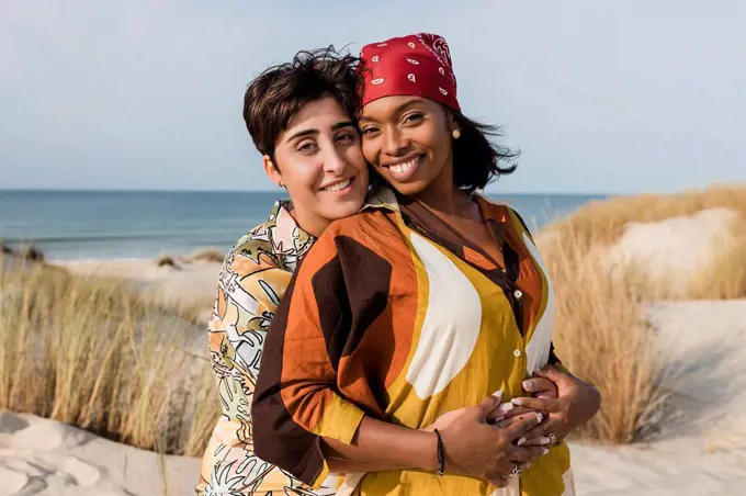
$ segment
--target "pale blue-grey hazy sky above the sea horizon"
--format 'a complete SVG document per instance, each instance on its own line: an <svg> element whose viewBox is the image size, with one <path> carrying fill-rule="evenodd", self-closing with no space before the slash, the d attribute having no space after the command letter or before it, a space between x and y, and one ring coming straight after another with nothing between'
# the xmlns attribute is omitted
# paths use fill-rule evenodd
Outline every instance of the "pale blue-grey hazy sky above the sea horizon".
<svg viewBox="0 0 746 496"><path fill-rule="evenodd" d="M746 2L0 0L0 189L272 190L247 83L304 48L443 35L487 191L746 181Z"/></svg>

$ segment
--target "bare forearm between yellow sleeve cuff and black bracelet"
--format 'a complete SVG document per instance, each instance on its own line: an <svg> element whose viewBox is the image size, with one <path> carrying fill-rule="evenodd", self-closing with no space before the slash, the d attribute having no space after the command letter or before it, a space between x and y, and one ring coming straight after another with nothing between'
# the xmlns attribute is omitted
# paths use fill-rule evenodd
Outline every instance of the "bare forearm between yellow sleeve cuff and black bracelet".
<svg viewBox="0 0 746 496"><path fill-rule="evenodd" d="M380 472L421 469L436 472L438 438L434 432L410 429L364 417L352 443L324 438L332 472Z"/></svg>

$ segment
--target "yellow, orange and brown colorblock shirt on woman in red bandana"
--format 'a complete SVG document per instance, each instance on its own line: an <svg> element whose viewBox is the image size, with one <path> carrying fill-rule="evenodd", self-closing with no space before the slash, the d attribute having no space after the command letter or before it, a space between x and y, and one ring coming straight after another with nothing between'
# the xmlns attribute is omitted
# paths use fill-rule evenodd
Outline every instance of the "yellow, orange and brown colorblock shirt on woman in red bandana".
<svg viewBox="0 0 746 496"><path fill-rule="evenodd" d="M327 228L267 335L252 409L260 456L317 486L328 474L319 436L349 443L363 415L421 428L497 390L520 396L556 361L554 294L531 235L507 205L475 200L505 267L389 190ZM341 478L338 494L574 494L564 442L504 489L420 470Z"/></svg>

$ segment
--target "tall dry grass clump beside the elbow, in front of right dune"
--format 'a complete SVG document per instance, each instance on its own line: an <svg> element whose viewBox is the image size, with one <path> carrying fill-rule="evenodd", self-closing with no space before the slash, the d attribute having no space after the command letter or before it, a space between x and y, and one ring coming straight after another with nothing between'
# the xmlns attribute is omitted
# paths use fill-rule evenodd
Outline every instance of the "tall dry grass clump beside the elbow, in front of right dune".
<svg viewBox="0 0 746 496"><path fill-rule="evenodd" d="M601 393L600 412L575 436L629 443L655 430L668 392L665 360L646 324L638 282L580 255L579 233L544 246L556 292L554 343L563 364Z"/></svg>

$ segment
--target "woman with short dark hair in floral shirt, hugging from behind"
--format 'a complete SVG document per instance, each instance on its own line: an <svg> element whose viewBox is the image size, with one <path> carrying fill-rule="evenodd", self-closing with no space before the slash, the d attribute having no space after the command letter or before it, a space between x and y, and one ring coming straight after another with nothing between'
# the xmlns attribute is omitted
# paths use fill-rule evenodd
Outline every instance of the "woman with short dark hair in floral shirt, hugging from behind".
<svg viewBox="0 0 746 496"><path fill-rule="evenodd" d="M298 53L248 87L244 120L267 174L292 200L228 251L208 326L223 415L203 456L197 495L323 494L253 452L251 395L262 345L291 273L336 218L360 210L368 166L360 150L353 57Z"/></svg>

